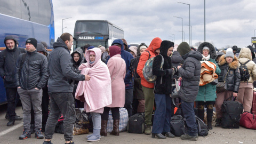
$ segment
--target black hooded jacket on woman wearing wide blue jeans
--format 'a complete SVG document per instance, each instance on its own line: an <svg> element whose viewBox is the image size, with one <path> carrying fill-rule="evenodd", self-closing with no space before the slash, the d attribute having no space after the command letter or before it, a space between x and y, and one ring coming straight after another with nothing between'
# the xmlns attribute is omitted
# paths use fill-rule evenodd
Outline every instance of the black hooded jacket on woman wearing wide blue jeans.
<svg viewBox="0 0 256 144"><path fill-rule="evenodd" d="M167 51L170 47L174 46L173 42L163 41L160 46L160 53L154 58L152 72L156 75L155 91L158 94L171 94L172 93L172 62L171 58L167 56ZM164 58L163 69L161 69L162 56ZM169 75L168 69L171 69Z"/></svg>

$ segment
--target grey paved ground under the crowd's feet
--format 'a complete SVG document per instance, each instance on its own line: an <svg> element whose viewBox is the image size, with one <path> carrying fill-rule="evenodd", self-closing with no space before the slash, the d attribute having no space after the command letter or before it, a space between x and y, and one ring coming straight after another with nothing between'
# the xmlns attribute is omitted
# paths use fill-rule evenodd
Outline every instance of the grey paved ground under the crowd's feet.
<svg viewBox="0 0 256 144"><path fill-rule="evenodd" d="M0 143L43 143L44 140L38 140L34 138L34 134L31 138L26 140L19 140L19 136L22 134L23 122L16 121L12 127L7 127L8 122L5 119L6 105L0 106ZM17 108L17 114L22 116L21 107ZM119 137L109 135L107 137L101 137L100 141L87 142L86 135L75 135L74 142L79 143L256 143L256 131L248 130L240 127L240 129L222 129L220 127L213 127L213 130L209 132L209 135L199 137L197 141L185 141L179 137L161 139L152 139L151 135L145 134L132 134L127 132L121 132ZM65 143L63 134L55 133L53 135L52 142L54 144Z"/></svg>

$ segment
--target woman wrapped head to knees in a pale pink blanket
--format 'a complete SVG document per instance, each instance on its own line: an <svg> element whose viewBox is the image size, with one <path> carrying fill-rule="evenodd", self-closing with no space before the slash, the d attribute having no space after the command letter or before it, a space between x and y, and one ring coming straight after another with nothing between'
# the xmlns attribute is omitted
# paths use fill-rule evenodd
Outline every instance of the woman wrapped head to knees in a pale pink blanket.
<svg viewBox="0 0 256 144"><path fill-rule="evenodd" d="M100 140L100 124L104 107L111 105L111 78L108 67L101 60L101 50L93 48L87 50L85 59L87 63L79 66L81 74L91 76L90 81L78 83L75 98L84 101L84 109L91 113L93 121L93 134L87 135L87 141Z"/></svg>

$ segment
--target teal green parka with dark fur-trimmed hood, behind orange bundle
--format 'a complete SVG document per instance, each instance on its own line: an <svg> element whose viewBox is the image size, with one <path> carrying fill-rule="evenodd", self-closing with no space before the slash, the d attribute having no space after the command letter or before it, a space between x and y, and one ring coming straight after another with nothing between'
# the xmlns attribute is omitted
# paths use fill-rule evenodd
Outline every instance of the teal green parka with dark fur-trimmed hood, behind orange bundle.
<svg viewBox="0 0 256 144"><path fill-rule="evenodd" d="M215 59L217 58L217 52L216 52L215 47L212 44L208 43L208 42L204 42L204 43L202 43L198 46L197 51L201 52L201 54L202 54L203 53L203 48L205 46L209 47L209 49L210 49L210 51L209 51L210 59L207 60L207 61L211 61L212 63L214 63L216 65L215 73L217 75L219 75L220 74L220 68L219 68L218 64L216 63L216 61L215 61ZM217 98L217 96L216 96L216 85L212 85L211 83L208 83L206 85L199 86L196 101L215 101L216 98Z"/></svg>

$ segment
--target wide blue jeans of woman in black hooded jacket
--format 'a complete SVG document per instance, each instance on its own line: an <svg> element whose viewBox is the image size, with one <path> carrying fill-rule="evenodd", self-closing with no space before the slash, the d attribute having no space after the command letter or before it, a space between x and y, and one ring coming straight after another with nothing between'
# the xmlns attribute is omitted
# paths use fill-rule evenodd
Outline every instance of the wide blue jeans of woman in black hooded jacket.
<svg viewBox="0 0 256 144"><path fill-rule="evenodd" d="M155 93L156 111L152 133L170 132L171 97L169 94Z"/></svg>

